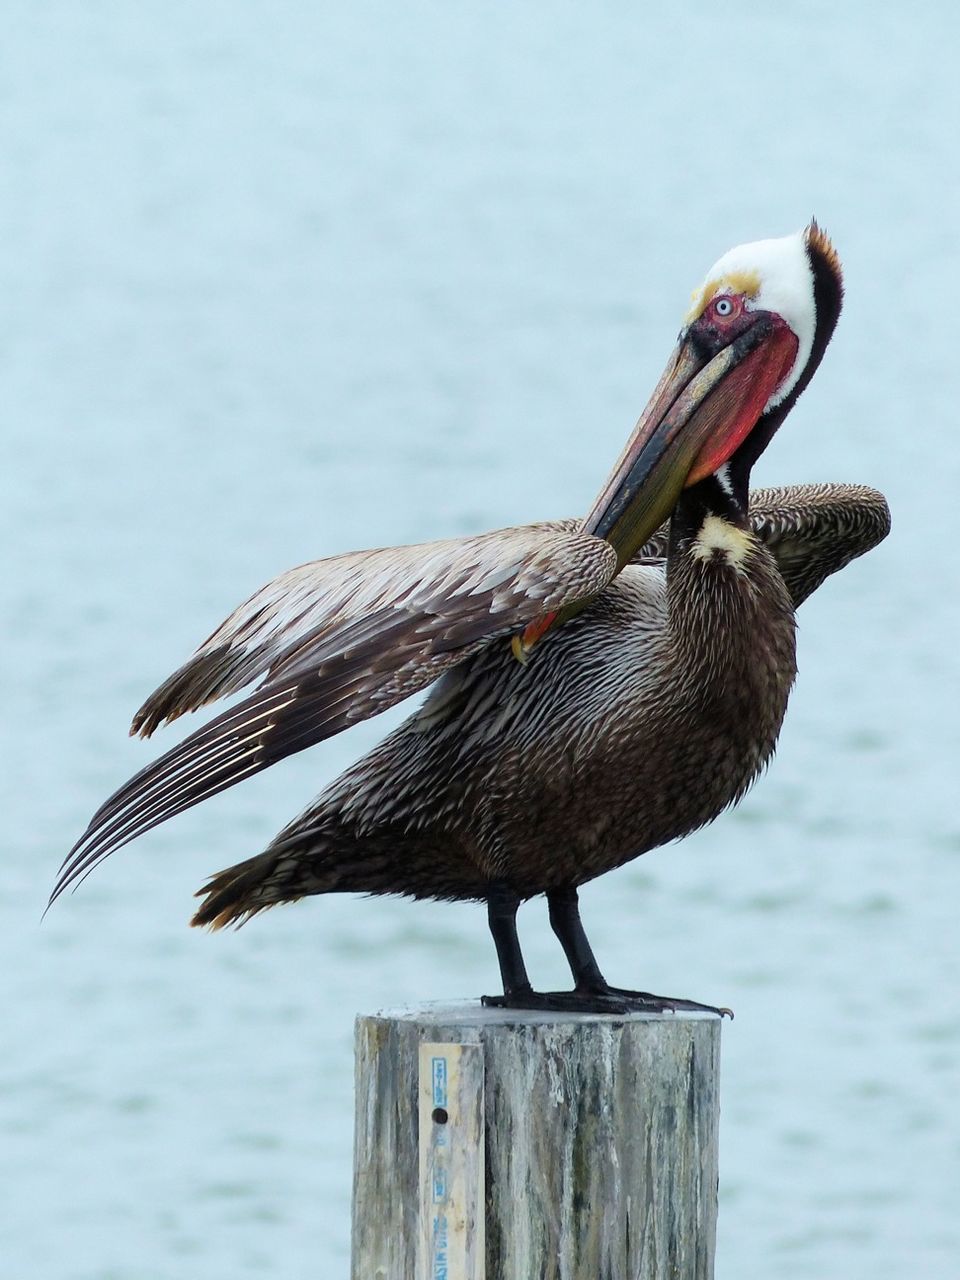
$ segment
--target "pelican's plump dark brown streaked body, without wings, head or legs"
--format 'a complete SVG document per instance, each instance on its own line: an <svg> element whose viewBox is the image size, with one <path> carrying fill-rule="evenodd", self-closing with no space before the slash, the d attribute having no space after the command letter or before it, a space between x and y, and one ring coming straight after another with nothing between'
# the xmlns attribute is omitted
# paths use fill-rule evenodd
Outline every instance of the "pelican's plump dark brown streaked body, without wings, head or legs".
<svg viewBox="0 0 960 1280"><path fill-rule="evenodd" d="M759 539L744 544L749 577L691 548L669 573L631 564L525 666L500 643L449 669L282 833L264 905L330 888L485 899L495 879L531 897L714 818L771 755L795 673L790 595ZM704 636L690 589L730 627Z"/></svg>

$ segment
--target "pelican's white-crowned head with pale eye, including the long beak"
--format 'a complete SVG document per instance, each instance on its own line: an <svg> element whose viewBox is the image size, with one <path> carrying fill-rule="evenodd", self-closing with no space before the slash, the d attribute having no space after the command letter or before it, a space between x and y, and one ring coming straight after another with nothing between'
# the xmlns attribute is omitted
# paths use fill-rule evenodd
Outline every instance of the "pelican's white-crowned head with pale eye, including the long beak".
<svg viewBox="0 0 960 1280"><path fill-rule="evenodd" d="M724 253L695 291L585 531L625 564L682 490L710 475L745 512L750 467L813 378L842 293L840 260L815 221Z"/></svg>

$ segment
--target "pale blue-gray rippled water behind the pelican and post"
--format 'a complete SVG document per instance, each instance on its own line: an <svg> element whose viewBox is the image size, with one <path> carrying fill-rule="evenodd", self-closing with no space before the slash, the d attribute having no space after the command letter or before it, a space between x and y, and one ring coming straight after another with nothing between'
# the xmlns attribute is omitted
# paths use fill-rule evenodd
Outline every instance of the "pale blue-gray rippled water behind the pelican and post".
<svg viewBox="0 0 960 1280"><path fill-rule="evenodd" d="M736 1009L721 1280L954 1277L956 6L9 0L3 28L0 1274L346 1275L353 1014L494 987L483 913L186 920L383 723L41 925L56 865L246 594L584 511L707 266L815 212L847 306L756 480L876 484L893 535L804 608L751 796L585 918L614 980Z"/></svg>

